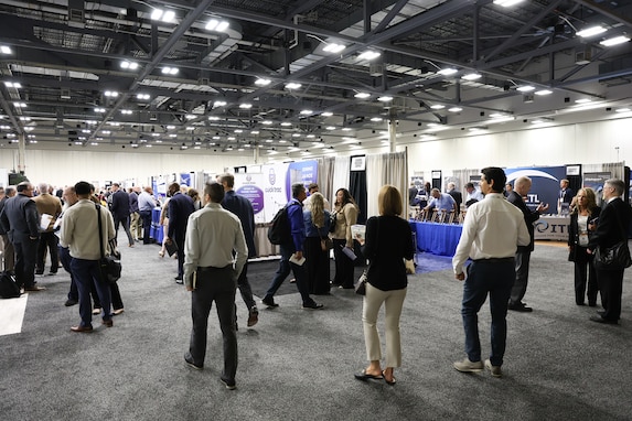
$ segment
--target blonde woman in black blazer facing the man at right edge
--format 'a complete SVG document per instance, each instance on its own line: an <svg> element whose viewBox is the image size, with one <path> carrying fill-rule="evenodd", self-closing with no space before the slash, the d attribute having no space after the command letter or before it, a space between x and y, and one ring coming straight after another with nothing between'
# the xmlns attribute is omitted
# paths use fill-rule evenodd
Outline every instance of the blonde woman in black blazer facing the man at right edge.
<svg viewBox="0 0 632 421"><path fill-rule="evenodd" d="M580 188L575 196L576 206L570 214L568 226L568 260L575 262L575 302L585 305L588 280L588 305L597 305L597 272L592 265L592 255L586 250L592 233L597 228L597 219L601 208L592 188Z"/></svg>

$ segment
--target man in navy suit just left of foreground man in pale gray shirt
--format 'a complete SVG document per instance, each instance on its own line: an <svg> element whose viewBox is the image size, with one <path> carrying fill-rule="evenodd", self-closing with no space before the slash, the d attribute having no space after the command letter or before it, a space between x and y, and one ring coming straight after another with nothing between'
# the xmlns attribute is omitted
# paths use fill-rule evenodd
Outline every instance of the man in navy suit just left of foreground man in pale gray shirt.
<svg viewBox="0 0 632 421"><path fill-rule="evenodd" d="M195 212L193 199L188 194L180 192L180 184L171 183L169 185L169 227L167 228L167 238L164 241L171 244L175 241L178 246L178 277L175 283L182 284L182 276L184 273L184 235L186 234L186 223L189 216Z"/></svg>

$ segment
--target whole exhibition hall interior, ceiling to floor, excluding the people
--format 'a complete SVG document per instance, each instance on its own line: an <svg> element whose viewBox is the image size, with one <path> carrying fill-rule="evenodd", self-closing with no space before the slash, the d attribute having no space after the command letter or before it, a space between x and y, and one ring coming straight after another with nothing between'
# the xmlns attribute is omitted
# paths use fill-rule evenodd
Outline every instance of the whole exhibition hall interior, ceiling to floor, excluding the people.
<svg viewBox="0 0 632 421"><path fill-rule="evenodd" d="M626 420L632 289L621 320L576 303L570 207L560 183L625 184L632 145L632 0L0 0L0 187L106 193L151 187L150 244L118 230L125 312L90 334L69 327L71 276L0 299L0 415L7 420ZM502 378L458 373L464 355L452 257L481 170L532 179L533 312L510 311ZM183 355L191 293L161 256L161 204L173 182L203 192L218 174L255 209L248 279L259 322L236 295L237 389L223 387L222 331L208 320L204 370ZM306 311L267 230L291 185L346 188L357 224L379 214L385 184L403 196L415 257L400 320L397 384L366 367L363 298L332 285ZM462 203L424 209L426 184ZM329 209L328 209L329 210ZM354 279L366 268L354 263ZM2 266L6 269L4 251ZM331 279L336 272L332 252ZM378 330L384 344L385 313ZM490 303L479 313L490 352ZM486 358L486 356L485 356ZM365 379L366 380L366 379Z"/></svg>

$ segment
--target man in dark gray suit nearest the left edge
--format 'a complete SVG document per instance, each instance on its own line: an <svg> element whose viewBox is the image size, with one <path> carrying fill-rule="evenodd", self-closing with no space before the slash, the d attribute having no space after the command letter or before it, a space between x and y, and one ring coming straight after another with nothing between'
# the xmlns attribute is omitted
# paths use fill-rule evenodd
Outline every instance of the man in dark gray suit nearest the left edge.
<svg viewBox="0 0 632 421"><path fill-rule="evenodd" d="M18 194L4 204L0 214L0 224L9 235L15 249L15 278L24 291L42 291L35 285L35 260L40 239L40 215L38 206L31 199L33 185L22 182L15 187Z"/></svg>

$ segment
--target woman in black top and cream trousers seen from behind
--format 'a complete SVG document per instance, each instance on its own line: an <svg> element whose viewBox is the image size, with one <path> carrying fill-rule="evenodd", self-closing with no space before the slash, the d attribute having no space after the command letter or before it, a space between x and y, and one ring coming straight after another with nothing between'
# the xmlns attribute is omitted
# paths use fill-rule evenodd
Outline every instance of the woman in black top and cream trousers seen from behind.
<svg viewBox="0 0 632 421"><path fill-rule="evenodd" d="M362 309L364 342L368 367L355 375L358 380L382 379L393 386L396 380L393 369L401 366L399 316L408 279L404 259L413 259L410 226L399 216L403 213L401 194L392 185L385 185L377 195L378 217L366 222L362 252L369 261L366 294ZM362 240L358 239L358 241ZM377 333L377 314L384 303L386 332L386 364L382 370L382 347Z"/></svg>

